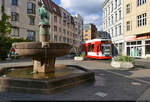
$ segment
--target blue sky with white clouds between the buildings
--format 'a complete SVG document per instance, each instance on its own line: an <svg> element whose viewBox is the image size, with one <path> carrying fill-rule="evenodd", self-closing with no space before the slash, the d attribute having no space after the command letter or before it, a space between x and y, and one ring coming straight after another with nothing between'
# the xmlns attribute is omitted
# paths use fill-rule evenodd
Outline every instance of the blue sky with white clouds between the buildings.
<svg viewBox="0 0 150 102"><path fill-rule="evenodd" d="M104 0L53 0L72 15L80 14L84 24L93 23L102 30L102 5Z"/></svg>

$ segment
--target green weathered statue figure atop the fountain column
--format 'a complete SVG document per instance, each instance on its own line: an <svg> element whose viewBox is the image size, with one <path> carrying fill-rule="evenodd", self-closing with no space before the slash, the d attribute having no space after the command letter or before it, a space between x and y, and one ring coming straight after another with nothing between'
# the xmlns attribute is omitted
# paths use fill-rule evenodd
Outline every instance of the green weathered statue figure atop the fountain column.
<svg viewBox="0 0 150 102"><path fill-rule="evenodd" d="M39 8L40 23L39 25L49 25L49 13L44 4Z"/></svg>

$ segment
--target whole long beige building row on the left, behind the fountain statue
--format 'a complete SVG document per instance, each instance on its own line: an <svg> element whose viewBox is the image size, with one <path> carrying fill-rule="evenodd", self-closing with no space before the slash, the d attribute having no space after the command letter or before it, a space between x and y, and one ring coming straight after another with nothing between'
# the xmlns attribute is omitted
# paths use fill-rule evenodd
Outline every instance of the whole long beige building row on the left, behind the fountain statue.
<svg viewBox="0 0 150 102"><path fill-rule="evenodd" d="M52 0L0 0L0 6L4 4L5 12L11 16L13 28L10 36L39 41L38 8L42 3L50 14L50 41L69 43L79 48L83 18L80 15L73 17Z"/></svg>

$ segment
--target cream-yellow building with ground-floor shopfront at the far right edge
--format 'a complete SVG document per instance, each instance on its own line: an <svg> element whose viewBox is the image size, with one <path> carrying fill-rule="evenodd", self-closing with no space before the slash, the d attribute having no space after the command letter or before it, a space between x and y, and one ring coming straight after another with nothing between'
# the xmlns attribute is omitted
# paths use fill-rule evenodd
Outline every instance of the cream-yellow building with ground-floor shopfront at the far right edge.
<svg viewBox="0 0 150 102"><path fill-rule="evenodd" d="M150 0L124 0L126 54L145 57L150 54Z"/></svg>

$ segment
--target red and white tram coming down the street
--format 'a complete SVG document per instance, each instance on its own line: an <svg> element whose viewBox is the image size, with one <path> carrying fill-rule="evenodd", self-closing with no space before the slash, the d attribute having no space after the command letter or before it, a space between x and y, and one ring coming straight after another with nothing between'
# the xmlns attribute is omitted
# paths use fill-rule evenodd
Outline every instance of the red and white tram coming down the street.
<svg viewBox="0 0 150 102"><path fill-rule="evenodd" d="M112 42L110 39L93 39L82 44L87 58L112 59Z"/></svg>

